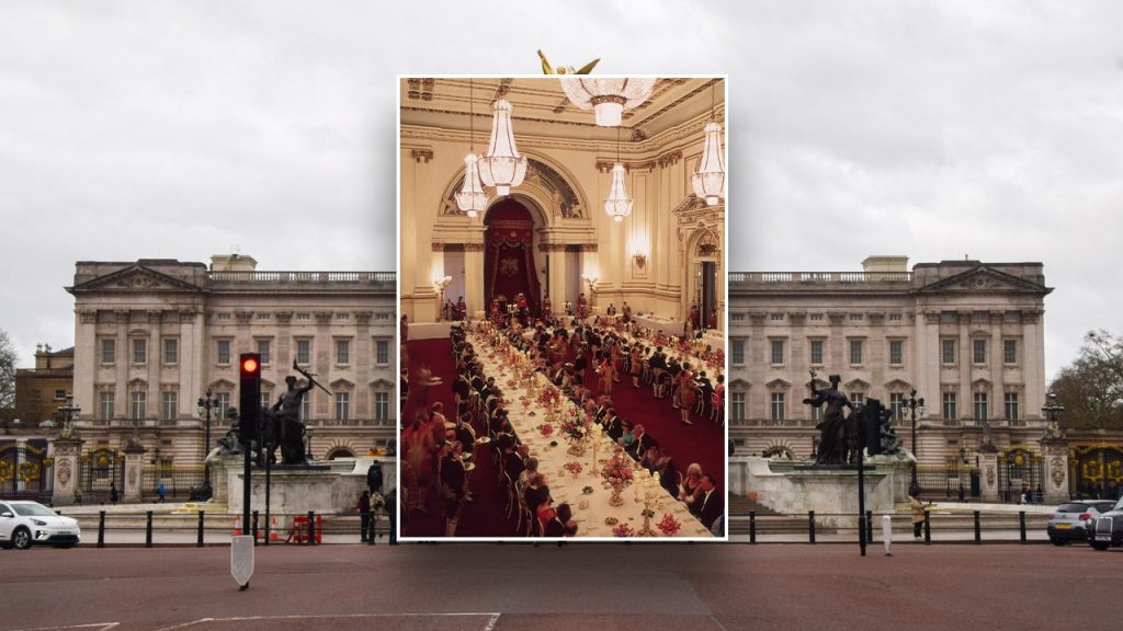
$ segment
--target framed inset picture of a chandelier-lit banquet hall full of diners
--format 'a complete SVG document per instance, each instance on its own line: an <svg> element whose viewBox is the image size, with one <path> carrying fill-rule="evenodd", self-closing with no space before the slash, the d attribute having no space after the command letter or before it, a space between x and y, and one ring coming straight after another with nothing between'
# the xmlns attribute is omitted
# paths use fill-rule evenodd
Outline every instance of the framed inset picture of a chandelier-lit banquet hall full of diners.
<svg viewBox="0 0 1123 631"><path fill-rule="evenodd" d="M401 534L723 537L725 79L399 89Z"/></svg>

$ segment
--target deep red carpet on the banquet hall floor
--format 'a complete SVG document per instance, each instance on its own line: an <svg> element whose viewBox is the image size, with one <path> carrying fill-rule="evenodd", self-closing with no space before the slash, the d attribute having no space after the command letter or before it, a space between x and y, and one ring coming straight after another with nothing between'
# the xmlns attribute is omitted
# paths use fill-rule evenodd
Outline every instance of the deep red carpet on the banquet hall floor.
<svg viewBox="0 0 1123 631"><path fill-rule="evenodd" d="M428 364L433 376L439 376L442 384L429 388L428 403L441 401L445 413L451 420L454 414L451 384L456 379L456 364L451 356L451 342L448 339L412 340L407 342L410 356L410 400L402 414L402 422L412 422L413 415L423 408L417 391L417 373L422 362ZM586 384L596 384L593 368L586 369ZM594 395L596 387L593 388ZM691 463L702 465L702 470L718 479L718 488L725 488L725 432L724 428L714 424L709 419L693 418L695 424L684 426L679 420L679 411L670 404L670 399L654 399L651 386L643 385L633 388L631 378L624 376L621 383L612 388L612 402L617 414L622 419L631 419L641 423L652 438L666 449L678 469L683 473ZM483 428L476 428L482 435ZM466 503L460 513L456 530L457 537L517 537L515 524L505 519L504 499L495 485L495 468L491 460L489 447L477 447L475 464L472 472L469 488L475 502ZM445 519L436 493L430 493L426 509L428 513L412 512L402 515L402 532L405 537L444 537Z"/></svg>

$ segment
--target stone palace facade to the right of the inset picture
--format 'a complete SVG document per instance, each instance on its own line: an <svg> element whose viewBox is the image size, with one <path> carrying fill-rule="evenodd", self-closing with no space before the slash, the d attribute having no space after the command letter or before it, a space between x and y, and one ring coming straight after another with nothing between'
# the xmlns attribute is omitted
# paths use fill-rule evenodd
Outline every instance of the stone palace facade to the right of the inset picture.
<svg viewBox="0 0 1123 631"><path fill-rule="evenodd" d="M915 388L925 402L922 468L969 466L985 433L1020 463L1040 456L1052 291L1040 263L944 260L910 272L906 257L874 256L861 272L733 273L729 286L736 455L812 454L818 412L802 401L815 371L821 386L838 374L851 401L892 408L909 449L902 403Z"/></svg>

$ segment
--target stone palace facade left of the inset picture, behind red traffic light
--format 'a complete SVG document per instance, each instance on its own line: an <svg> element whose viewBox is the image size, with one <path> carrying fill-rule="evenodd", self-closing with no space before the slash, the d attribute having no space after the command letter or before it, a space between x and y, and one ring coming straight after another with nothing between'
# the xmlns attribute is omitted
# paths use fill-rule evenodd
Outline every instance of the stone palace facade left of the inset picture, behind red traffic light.
<svg viewBox="0 0 1123 631"><path fill-rule="evenodd" d="M295 375L294 362L328 391L313 388L301 410L316 458L392 449L394 273L262 272L239 255L209 266L79 262L66 291L75 313L74 428L102 467L113 467L130 439L148 466L200 467L230 429L241 353L262 356L263 405ZM197 404L208 391L210 446Z"/></svg>

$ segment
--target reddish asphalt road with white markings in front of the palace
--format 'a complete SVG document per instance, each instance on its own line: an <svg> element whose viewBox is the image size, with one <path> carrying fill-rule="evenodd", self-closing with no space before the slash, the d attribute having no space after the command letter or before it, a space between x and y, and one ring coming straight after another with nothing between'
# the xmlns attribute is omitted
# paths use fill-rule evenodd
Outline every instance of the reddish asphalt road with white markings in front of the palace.
<svg viewBox="0 0 1123 631"><path fill-rule="evenodd" d="M403 545L0 550L0 630L1119 629L1087 546Z"/></svg>

